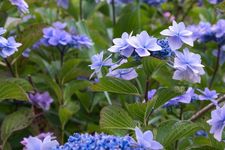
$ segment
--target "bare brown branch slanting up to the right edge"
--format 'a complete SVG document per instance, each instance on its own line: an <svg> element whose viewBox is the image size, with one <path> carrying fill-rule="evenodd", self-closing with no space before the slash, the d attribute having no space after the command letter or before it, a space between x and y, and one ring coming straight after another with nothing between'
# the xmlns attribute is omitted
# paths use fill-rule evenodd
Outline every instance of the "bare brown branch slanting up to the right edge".
<svg viewBox="0 0 225 150"><path fill-rule="evenodd" d="M225 94L222 95L220 98L218 98L218 104L225 101ZM213 103L208 104L204 108L202 108L200 111L198 111L196 114L194 114L189 120L190 121L196 121L198 118L200 118L202 115L204 115L206 112L208 112L210 109L212 109L215 105Z"/></svg>

